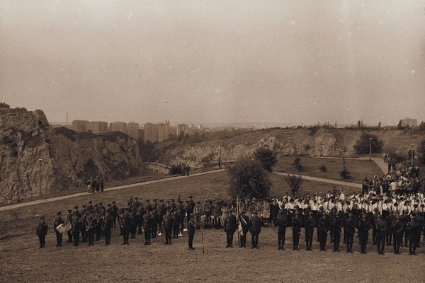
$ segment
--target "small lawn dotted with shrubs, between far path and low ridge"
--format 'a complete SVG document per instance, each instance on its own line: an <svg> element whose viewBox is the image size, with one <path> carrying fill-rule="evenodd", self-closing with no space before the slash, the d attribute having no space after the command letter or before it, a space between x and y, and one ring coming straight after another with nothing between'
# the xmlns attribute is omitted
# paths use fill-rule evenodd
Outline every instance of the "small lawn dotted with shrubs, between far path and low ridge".
<svg viewBox="0 0 425 283"><path fill-rule="evenodd" d="M329 178L333 180L344 180L341 178L339 173L342 171L342 159L331 159L331 158L313 158L309 156L301 156L301 164L303 171L298 172L295 166L293 156L291 157L280 157L274 170L285 171L290 173L300 173L303 175L310 175L313 177ZM327 172L322 172L319 167L327 167ZM373 175L382 175L382 171L373 161L368 160L355 160L346 159L346 168L351 173L351 178L345 180L346 182L362 183L365 177L373 177Z"/></svg>

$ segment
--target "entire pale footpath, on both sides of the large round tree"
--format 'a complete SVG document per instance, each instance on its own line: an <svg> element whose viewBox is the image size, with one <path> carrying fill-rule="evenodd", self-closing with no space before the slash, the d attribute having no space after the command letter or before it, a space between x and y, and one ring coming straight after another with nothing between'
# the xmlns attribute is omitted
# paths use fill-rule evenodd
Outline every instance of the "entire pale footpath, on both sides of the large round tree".
<svg viewBox="0 0 425 283"><path fill-rule="evenodd" d="M352 158L352 159L368 160L369 158L368 157L361 157L361 158ZM387 164L382 160L382 158L373 157L372 160L375 161L375 163L379 166L379 168L382 170L383 173L387 172ZM174 181L174 180L180 180L182 178L191 178L191 177L196 177L196 176L200 176L200 175L218 173L218 172L223 172L223 171L225 171L225 169L217 169L217 170L200 172L200 173L192 173L189 176L175 176L175 177L169 177L169 178L164 178L164 179L149 180L149 181L134 183L134 184L130 184L130 185L120 185L120 186L116 186L116 187L107 187L105 189L105 191L110 192L110 191L113 191L113 190L123 190L123 189L128 189L130 187L138 187L138 186L142 186L142 185L150 185L150 184L155 184L155 183L169 182L169 181ZM273 174L285 175L285 176L288 175L288 174L293 175L293 173L286 173L286 172L281 172L281 171L273 171ZM301 175L301 177L305 180L312 180L312 181L316 181L316 182L329 183L329 184L333 184L333 185L344 185L344 186L348 186L348 187L361 187L361 184L358 184L358 183L350 183L350 182L344 182L344 181L327 179L327 178L318 178L318 177L312 177L312 176L307 176L307 175ZM20 202L20 203L16 203L16 204L6 204L6 205L0 207L0 212L4 212L4 211L10 210L10 209L16 209L16 208L20 208L20 207L28 207L28 206L34 205L34 204L42 204L42 203L45 203L45 202L55 202L57 200L67 200L67 199L70 199L72 197L81 197L81 196L84 196L84 195L87 195L87 194L88 194L88 192L77 192L77 193L74 193L74 194L61 195L61 196L58 196L58 197L47 197L47 198L41 199L41 200L32 200L32 201L29 201L29 202Z"/></svg>

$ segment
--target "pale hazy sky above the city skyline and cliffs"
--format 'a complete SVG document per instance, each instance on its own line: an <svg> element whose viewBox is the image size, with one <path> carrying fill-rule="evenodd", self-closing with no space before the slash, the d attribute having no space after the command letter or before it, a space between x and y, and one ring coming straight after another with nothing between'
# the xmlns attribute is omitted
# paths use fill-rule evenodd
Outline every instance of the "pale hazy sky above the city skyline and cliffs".
<svg viewBox="0 0 425 283"><path fill-rule="evenodd" d="M425 0L0 0L0 101L50 121L425 120Z"/></svg>

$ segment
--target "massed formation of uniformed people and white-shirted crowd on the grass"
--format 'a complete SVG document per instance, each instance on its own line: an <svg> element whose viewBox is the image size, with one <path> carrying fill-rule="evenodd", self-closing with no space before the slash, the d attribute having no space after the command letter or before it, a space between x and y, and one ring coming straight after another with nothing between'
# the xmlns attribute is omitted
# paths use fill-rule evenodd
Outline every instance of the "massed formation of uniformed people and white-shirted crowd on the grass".
<svg viewBox="0 0 425 283"><path fill-rule="evenodd" d="M239 247L246 247L247 233L251 234L251 248L259 248L261 229L271 227L276 231L278 249L284 250L286 229L292 232L292 248L298 250L300 236L305 238L305 249L312 250L314 232L319 249L326 250L328 236L332 250L339 251L341 242L346 252L353 253L355 238L358 238L361 253L366 253L369 238L383 254L385 245L400 253L404 246L409 254L416 255L421 233L425 240L425 200L424 195L376 195L373 189L368 193L346 194L344 190L328 192L324 196L307 195L290 197L286 194L281 200L205 200L195 202L192 196L183 202L145 200L130 197L127 207L118 208L115 202L84 204L69 209L67 216L57 212L53 228L57 236L57 246L62 246L60 225L67 225L67 242L79 246L81 243L94 245L104 238L105 245L111 243L111 229L118 227L123 236L123 245L130 239L143 234L144 244L150 245L152 238L164 236L164 244L171 245L171 239L179 238L188 232L188 248L193 250L193 236L197 229L224 229L227 238L226 248L232 248L234 233L239 233ZM371 232L371 235L370 235ZM47 224L40 219L37 228L40 248L45 246ZM371 237L370 237L371 236Z"/></svg>

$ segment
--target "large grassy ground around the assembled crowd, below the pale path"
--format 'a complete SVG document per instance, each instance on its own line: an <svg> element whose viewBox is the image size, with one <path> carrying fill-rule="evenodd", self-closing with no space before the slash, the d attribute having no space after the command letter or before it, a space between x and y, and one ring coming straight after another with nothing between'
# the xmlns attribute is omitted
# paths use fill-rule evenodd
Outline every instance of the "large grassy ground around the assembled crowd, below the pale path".
<svg viewBox="0 0 425 283"><path fill-rule="evenodd" d="M282 176L271 175L273 194L283 194ZM327 192L332 186L305 181L306 192ZM326 187L326 188L325 188ZM418 256L390 253L377 255L375 246L368 245L368 255L334 253L327 244L327 252L319 252L318 243L307 252L301 236L299 251L290 249L290 229L286 233L286 250L277 250L276 233L263 229L259 237L260 249L225 248L225 233L206 230L203 233L205 254L200 231L196 231L194 246L187 249L187 235L173 239L164 246L163 238L153 239L151 246L143 246L142 236L121 246L118 229L113 230L111 246L96 242L95 246L73 247L65 243L55 248L52 219L58 210L84 204L89 200L104 203L117 200L122 206L130 195L141 200L154 197L169 199L181 195L186 200L226 197L227 175L224 172L193 176L163 183L142 185L124 190L96 193L84 197L48 202L0 212L0 282L423 282L424 248ZM37 219L43 214L49 224L46 248L38 249L35 236ZM303 234L303 232L302 232ZM236 236L236 234L235 234ZM315 237L315 234L314 234ZM66 236L64 236L66 239ZM66 241L66 240L65 240ZM237 238L234 240L237 243ZM248 235L247 246L251 243ZM236 245L235 245L236 246ZM424 243L422 243L424 246ZM341 246L341 249L344 248Z"/></svg>

